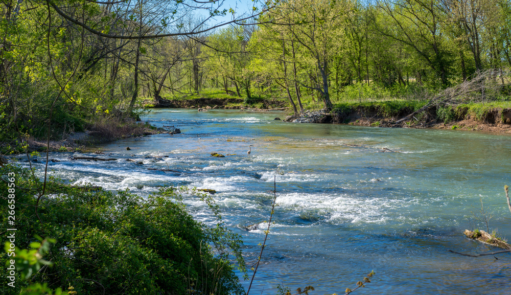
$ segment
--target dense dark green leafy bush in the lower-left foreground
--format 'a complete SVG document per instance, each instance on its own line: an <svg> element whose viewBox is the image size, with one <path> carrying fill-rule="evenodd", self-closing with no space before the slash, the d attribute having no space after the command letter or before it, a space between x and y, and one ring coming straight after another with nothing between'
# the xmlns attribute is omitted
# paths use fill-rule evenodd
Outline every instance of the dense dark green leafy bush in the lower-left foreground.
<svg viewBox="0 0 511 295"><path fill-rule="evenodd" d="M40 271L30 282L51 287L71 284L78 294L98 289L108 294L243 293L228 260L234 255L244 265L241 237L225 229L218 207L205 194L199 198L219 218L214 228L195 221L185 211L182 197L171 188L143 199L129 191L87 191L51 180L47 191L52 197L42 196L38 203L41 223L33 193L21 189L37 191L40 181L31 178L29 171L10 165L0 170L2 178L7 171L16 173L18 188L16 245L33 248L20 252L20 257L29 261L25 264L44 265L28 259L49 246L49 240L34 240L35 234L56 240L45 255L54 264L52 271ZM0 182L0 190L6 191L6 186L6 181ZM0 206L6 207L7 200L0 199ZM1 218L6 224L7 216ZM0 263L5 264L6 259L3 256ZM6 274L0 274L1 292L19 293L19 288L6 287L6 280Z"/></svg>

